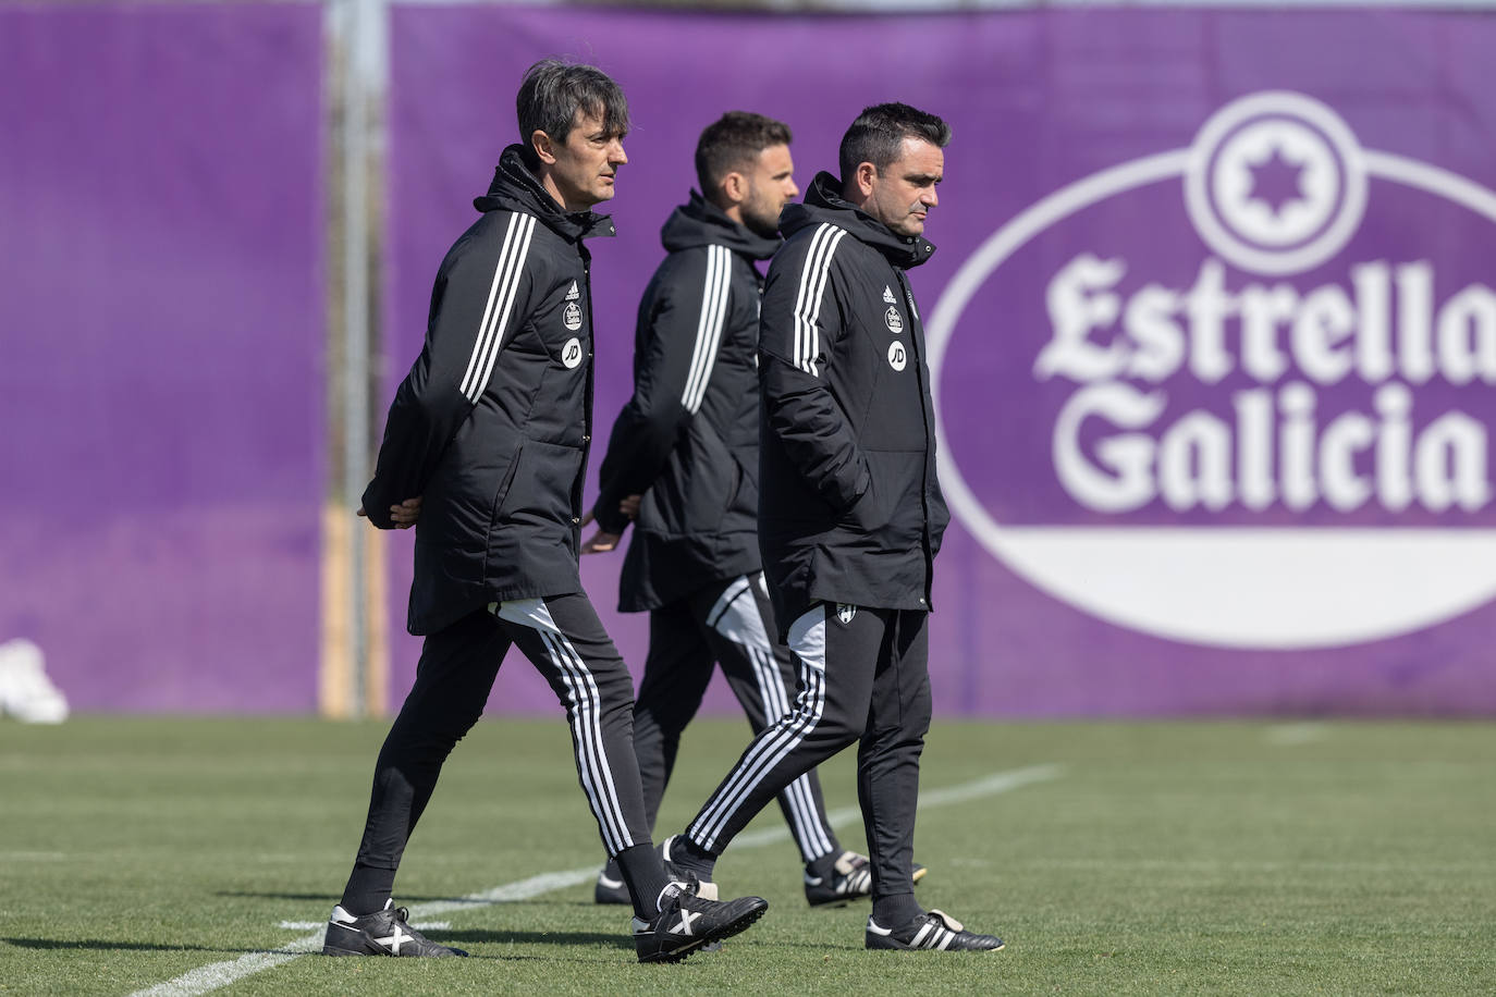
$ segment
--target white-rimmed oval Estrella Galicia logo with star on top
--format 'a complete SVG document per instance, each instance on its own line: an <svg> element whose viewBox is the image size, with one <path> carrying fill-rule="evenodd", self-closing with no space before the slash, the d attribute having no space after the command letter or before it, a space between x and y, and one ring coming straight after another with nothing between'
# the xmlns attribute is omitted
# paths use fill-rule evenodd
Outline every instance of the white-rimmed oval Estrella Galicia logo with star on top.
<svg viewBox="0 0 1496 997"><path fill-rule="evenodd" d="M1165 239L1071 245L1058 271L1053 247L1028 248L1115 197L1162 205L1170 181L1183 197ZM1432 236L1363 226L1369 193L1394 218L1447 205L1478 245L1496 223L1496 191L1363 149L1325 105L1273 91L998 227L929 323L951 511L1050 595L1197 644L1337 647L1496 596L1496 420L1477 417L1496 383L1496 291ZM1445 269L1466 275L1436 283ZM986 332L983 294L1022 287L1040 288L1023 308L1049 317L1047 341L1025 342L995 395L942 362L953 336ZM1014 411L1034 432L977 429ZM1001 490L1013 478L1044 513L1025 519Z"/></svg>

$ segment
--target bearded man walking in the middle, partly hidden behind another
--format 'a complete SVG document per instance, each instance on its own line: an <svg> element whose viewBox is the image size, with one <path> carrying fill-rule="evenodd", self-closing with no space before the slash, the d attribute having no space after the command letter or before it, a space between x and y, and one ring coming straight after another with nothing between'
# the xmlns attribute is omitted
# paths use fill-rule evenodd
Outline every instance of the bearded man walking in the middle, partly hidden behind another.
<svg viewBox="0 0 1496 997"><path fill-rule="evenodd" d="M661 230L667 251L634 333L634 393L603 459L582 553L613 550L633 520L619 610L649 613L634 704L634 752L654 827L681 732L720 662L754 732L794 700L796 665L770 638L758 558L758 293L755 266L779 248L779 211L799 190L790 129L730 111L696 145L700 193ZM779 792L812 906L868 895L868 859L842 849L814 771ZM669 858L669 842L664 842ZM597 903L628 903L616 862Z"/></svg>

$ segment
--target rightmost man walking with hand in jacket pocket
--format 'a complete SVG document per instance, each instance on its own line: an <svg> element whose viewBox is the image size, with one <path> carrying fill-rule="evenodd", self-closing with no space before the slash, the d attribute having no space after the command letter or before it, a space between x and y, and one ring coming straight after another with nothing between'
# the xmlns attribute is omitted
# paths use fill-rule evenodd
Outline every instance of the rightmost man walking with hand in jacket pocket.
<svg viewBox="0 0 1496 997"><path fill-rule="evenodd" d="M794 709L764 728L672 859L717 856L785 785L857 743L872 865L871 949L993 951L914 900L914 812L931 720L932 567L950 516L935 478L925 332L905 271L938 203L950 129L907 105L868 108L779 215L758 339L758 544L781 637L800 662Z"/></svg>

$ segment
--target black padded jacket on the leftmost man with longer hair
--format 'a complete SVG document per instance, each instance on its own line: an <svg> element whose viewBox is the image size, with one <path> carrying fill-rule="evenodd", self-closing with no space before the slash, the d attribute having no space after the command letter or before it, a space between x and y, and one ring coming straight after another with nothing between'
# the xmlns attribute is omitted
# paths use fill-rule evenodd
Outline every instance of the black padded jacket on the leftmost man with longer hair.
<svg viewBox="0 0 1496 997"><path fill-rule="evenodd" d="M504 149L483 212L447 251L426 342L395 393L364 508L422 496L411 634L503 599L580 592L592 433L591 256L604 215L561 211Z"/></svg>

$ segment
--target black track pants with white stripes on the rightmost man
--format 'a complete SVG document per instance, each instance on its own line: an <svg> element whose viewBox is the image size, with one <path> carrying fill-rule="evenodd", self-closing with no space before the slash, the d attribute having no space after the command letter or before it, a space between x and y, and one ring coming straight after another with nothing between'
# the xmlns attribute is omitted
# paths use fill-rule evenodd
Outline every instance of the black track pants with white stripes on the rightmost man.
<svg viewBox="0 0 1496 997"><path fill-rule="evenodd" d="M874 900L914 892L914 810L931 723L926 613L818 604L790 626L794 709L764 728L687 827L721 854L769 800L857 741Z"/></svg>

